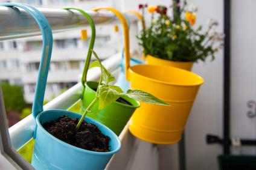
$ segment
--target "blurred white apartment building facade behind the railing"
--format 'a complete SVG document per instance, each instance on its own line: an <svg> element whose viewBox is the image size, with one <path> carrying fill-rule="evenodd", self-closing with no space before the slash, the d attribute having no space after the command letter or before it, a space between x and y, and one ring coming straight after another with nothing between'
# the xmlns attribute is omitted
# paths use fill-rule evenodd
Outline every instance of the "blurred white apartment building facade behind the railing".
<svg viewBox="0 0 256 170"><path fill-rule="evenodd" d="M3 2L3 1L0 1ZM14 1L24 2L42 8L63 8L67 6L88 9L98 6L113 6L114 1L72 1L72 0L37 0ZM51 100L79 81L91 37L80 40L80 31L72 30L54 34L53 55L51 58L45 100ZM97 37L94 49L101 59L105 59L120 50L118 36L113 25L102 25L96 28ZM37 71L41 58L42 37L20 38L0 42L0 81L24 87L26 102L32 103L37 80ZM93 59L93 57L92 57Z"/></svg>

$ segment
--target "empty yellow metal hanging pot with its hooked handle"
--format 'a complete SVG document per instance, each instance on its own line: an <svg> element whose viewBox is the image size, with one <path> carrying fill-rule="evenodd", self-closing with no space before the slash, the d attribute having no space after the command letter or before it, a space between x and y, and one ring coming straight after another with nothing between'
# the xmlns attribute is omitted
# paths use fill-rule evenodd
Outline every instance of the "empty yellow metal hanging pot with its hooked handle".
<svg viewBox="0 0 256 170"><path fill-rule="evenodd" d="M139 64L130 67L129 29L124 16L109 7L121 20L124 28L124 55L126 78L131 88L143 90L169 103L170 106L150 105L141 102L133 114L129 129L139 139L155 144L173 144L181 139L188 115L203 79L180 68L163 65Z"/></svg>

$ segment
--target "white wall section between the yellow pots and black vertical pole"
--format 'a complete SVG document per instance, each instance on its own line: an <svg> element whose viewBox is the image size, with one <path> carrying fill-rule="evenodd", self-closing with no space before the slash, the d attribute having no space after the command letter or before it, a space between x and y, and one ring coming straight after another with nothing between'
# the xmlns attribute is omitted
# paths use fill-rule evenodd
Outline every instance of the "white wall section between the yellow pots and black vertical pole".
<svg viewBox="0 0 256 170"><path fill-rule="evenodd" d="M189 0L195 4L197 25L206 25L208 19L220 22L219 31L223 30L222 0ZM217 168L217 156L222 153L220 145L207 145L205 135L215 134L222 137L222 98L223 98L223 53L216 55L216 60L199 62L194 65L193 72L205 80L194 102L186 128L186 159L188 170Z"/></svg>

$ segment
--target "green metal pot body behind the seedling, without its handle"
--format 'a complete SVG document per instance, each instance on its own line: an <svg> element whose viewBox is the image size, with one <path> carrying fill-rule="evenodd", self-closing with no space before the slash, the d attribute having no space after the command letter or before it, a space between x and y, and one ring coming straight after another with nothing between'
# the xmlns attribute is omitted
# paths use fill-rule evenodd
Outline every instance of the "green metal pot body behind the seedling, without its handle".
<svg viewBox="0 0 256 170"><path fill-rule="evenodd" d="M94 100L95 91L98 87L98 82L86 82L85 91L83 93L82 109L81 112L85 111L87 106ZM124 126L130 120L133 112L139 107L139 102L130 99L129 97L122 97L127 100L131 105L126 105L120 102L113 102L105 108L99 110L98 102L92 107L91 112L86 116L94 120L99 121L105 126L109 127L116 135L120 135Z"/></svg>

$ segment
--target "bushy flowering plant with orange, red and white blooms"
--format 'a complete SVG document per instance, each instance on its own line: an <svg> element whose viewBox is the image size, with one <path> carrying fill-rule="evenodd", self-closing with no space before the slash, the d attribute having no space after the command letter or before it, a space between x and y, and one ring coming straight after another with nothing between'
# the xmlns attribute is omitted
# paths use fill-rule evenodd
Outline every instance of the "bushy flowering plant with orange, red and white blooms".
<svg viewBox="0 0 256 170"><path fill-rule="evenodd" d="M142 10L143 22L145 9L151 14L149 28L144 28L138 35L139 45L143 47L144 55L181 62L205 61L207 56L214 59L214 54L222 47L222 33L216 32L216 20L209 20L208 28L202 31L202 25L196 24L194 5L187 7L187 1L173 2L172 16L167 15L168 8L162 5L139 5Z"/></svg>

